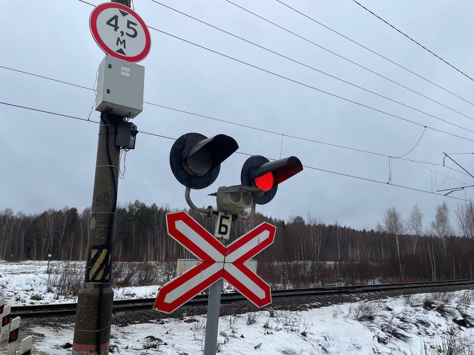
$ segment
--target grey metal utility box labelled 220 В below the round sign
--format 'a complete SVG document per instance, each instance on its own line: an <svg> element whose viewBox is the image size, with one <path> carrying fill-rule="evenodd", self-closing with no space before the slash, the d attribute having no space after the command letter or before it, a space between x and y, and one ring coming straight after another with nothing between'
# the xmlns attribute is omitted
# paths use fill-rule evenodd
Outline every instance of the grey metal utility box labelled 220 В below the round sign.
<svg viewBox="0 0 474 355"><path fill-rule="evenodd" d="M145 67L106 55L99 66L95 109L135 117L143 111Z"/></svg>

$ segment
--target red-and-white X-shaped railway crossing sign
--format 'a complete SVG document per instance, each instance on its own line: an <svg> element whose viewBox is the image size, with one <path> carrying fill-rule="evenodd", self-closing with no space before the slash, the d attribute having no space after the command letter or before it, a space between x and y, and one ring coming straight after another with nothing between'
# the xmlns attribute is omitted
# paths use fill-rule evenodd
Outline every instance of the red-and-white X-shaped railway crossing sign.
<svg viewBox="0 0 474 355"><path fill-rule="evenodd" d="M221 278L257 307L272 303L270 286L244 262L273 243L275 226L264 222L227 247L186 212L167 213L166 226L201 262L159 289L154 310L171 313Z"/></svg>

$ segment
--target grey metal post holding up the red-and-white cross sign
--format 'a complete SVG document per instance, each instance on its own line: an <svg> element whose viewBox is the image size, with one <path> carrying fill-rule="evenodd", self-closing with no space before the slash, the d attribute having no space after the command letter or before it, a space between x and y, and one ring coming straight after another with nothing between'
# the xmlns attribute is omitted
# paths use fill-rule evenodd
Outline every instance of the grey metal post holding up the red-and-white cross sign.
<svg viewBox="0 0 474 355"><path fill-rule="evenodd" d="M219 223L219 220L216 220ZM229 227L228 234L231 233ZM217 232L214 233L222 244L226 245L227 240L220 238ZM209 297L207 299L207 319L206 319L206 337L204 340L204 355L215 355L217 351L217 334L219 332L219 308L221 306L221 292L224 280L220 279L209 287Z"/></svg>

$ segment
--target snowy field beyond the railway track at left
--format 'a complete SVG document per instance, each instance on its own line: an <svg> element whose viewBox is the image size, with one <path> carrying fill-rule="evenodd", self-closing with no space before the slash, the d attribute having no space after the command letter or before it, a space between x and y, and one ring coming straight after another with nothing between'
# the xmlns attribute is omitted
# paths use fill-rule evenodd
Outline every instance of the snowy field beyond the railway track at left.
<svg viewBox="0 0 474 355"><path fill-rule="evenodd" d="M158 272L161 265L156 264ZM0 261L0 297L10 305L76 302L74 295L84 278L84 262ZM163 276L162 283L166 281ZM160 283L160 284L162 284ZM159 284L115 287L116 299L155 297Z"/></svg>

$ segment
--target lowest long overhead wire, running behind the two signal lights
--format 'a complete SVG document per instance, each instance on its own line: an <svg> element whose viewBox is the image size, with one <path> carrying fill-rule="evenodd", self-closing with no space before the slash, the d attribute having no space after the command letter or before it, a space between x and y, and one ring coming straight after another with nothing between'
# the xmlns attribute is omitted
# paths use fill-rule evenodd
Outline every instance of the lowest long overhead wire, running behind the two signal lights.
<svg viewBox="0 0 474 355"><path fill-rule="evenodd" d="M87 119L85 119L85 118L80 118L80 117L77 117L77 116L66 115L66 114L62 114L62 113L58 113L58 112L52 112L52 111L47 111L47 110L41 110L41 109L38 109L38 108L29 107L29 106L14 105L14 104L5 103L5 102L0 102L0 104L1 104L1 105L12 106L12 107L17 107L17 108L23 108L23 109L33 110L33 111L38 111L38 112L42 112L42 113L46 113L46 114L51 114L51 115L56 115L56 116L62 116L62 117L73 118L73 119L77 119L77 120L80 120L80 121L92 122L92 123L96 123L96 124L100 123L100 122L97 122L97 121L90 121L90 120L87 120ZM154 137L165 138L165 139L169 139L169 140L173 140L173 141L176 140L176 138L171 138L171 137L167 137L167 136L162 136L162 135L158 135L158 134L155 134L155 133L152 133L152 132L143 132L143 131L140 131L140 133L146 134L146 135L150 135L150 136L154 136ZM251 156L251 155L252 155L252 154L248 154L248 153L245 153L245 152L239 152L239 151L237 151L237 153L242 154L242 155L246 155L246 156ZM275 160L275 159L271 159L271 160ZM331 174L336 174L336 175L345 176L345 177L349 177L349 178L356 178L356 179L359 179L359 180L365 180L365 181L370 181L370 182L381 183L381 184L387 185L386 182L380 181L380 180L376 180L376 179L364 178L364 177L359 177L359 176L356 176L356 175L351 175L351 174L346 174L346 173L341 173L341 172L335 172L335 171L331 171L331 170L327 170L327 169L316 168L316 167L309 166L309 165L303 165L303 167L305 167L305 168L307 168L307 169L312 169L312 170L317 170L317 171L325 172L325 173L331 173ZM395 187L399 187L399 188L408 189L408 190L411 190L411 191L424 192L424 193L429 193L429 194L432 194L432 195L438 195L438 196L441 196L441 197L448 197L448 198L453 198L453 199L456 199L456 200L471 202L470 200L467 200L467 199L463 199L463 198L459 198L459 197L453 197L453 196L444 196L444 195L442 195L442 194L438 194L438 193L435 193L435 192L432 192L432 191L428 191L428 190L418 189L418 188L415 188L415 187L409 187L409 186L398 185L398 184L393 184L393 183L391 183L391 184L389 184L389 185L395 186Z"/></svg>

